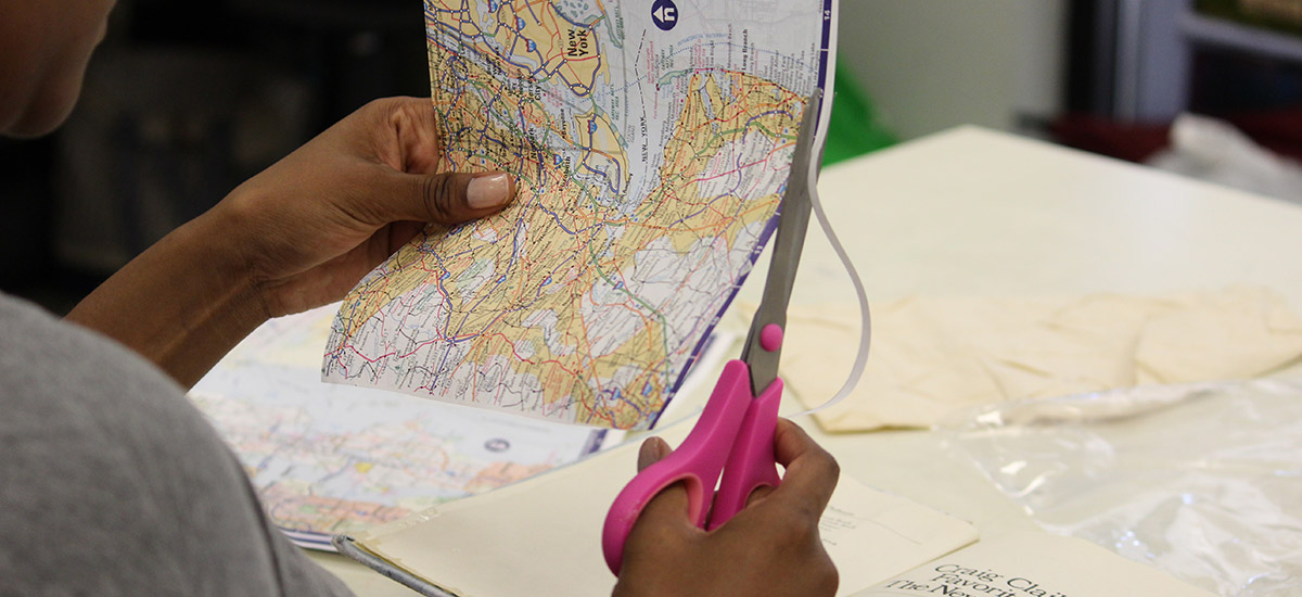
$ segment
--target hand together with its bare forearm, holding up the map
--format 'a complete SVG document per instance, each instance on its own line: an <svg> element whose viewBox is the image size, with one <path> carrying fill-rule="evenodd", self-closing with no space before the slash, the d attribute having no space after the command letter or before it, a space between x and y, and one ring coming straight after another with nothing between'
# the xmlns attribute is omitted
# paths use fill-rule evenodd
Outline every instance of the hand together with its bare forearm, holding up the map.
<svg viewBox="0 0 1302 597"><path fill-rule="evenodd" d="M501 172L437 173L428 99L375 100L132 259L68 319L189 387L271 317L344 297L427 224L490 215Z"/></svg>

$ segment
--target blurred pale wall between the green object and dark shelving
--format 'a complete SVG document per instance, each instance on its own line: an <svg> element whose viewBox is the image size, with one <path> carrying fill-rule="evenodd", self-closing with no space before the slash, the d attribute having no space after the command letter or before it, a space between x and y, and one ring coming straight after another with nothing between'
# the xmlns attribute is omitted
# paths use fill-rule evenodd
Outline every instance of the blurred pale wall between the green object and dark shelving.
<svg viewBox="0 0 1302 597"><path fill-rule="evenodd" d="M1060 111L1066 0L841 0L837 60L914 138Z"/></svg>

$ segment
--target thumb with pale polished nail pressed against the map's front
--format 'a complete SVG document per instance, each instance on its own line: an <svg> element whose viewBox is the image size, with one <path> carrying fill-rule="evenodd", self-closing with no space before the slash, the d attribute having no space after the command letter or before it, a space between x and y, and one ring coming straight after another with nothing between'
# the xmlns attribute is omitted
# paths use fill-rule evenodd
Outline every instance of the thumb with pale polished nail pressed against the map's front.
<svg viewBox="0 0 1302 597"><path fill-rule="evenodd" d="M516 181L505 172L444 172L404 175L410 192L397 206L398 219L460 224L501 210L516 197Z"/></svg>

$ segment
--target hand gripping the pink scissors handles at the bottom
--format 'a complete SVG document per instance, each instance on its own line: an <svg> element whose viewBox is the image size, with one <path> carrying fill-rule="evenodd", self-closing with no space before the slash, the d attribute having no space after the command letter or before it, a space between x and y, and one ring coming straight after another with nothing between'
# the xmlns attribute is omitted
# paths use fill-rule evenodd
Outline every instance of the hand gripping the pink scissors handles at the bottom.
<svg viewBox="0 0 1302 597"><path fill-rule="evenodd" d="M741 512L711 532L687 517L682 484L651 499L624 545L624 567L613 594L835 594L836 567L819 540L818 523L840 468L788 420L777 421L773 448L786 468L783 484L755 490ZM668 454L664 441L648 439L638 454L638 469Z"/></svg>

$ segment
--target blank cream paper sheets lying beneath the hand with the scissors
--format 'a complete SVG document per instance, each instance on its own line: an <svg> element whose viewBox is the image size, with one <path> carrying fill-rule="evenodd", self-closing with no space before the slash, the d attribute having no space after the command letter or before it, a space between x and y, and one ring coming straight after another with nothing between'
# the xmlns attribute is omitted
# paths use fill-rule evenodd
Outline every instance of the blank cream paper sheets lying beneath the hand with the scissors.
<svg viewBox="0 0 1302 597"><path fill-rule="evenodd" d="M686 425L661 437L676 444ZM367 562L464 597L609 594L602 558L607 508L637 469L637 442L529 481L354 536ZM820 534L853 594L976 540L969 523L841 477ZM346 551L346 550L345 550ZM397 568L393 574L389 567ZM437 594L434 592L428 592Z"/></svg>

